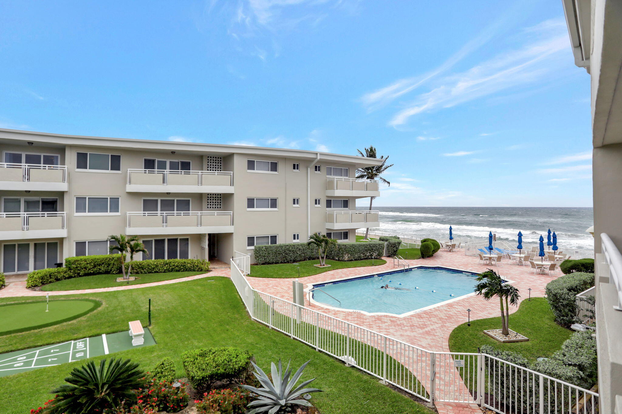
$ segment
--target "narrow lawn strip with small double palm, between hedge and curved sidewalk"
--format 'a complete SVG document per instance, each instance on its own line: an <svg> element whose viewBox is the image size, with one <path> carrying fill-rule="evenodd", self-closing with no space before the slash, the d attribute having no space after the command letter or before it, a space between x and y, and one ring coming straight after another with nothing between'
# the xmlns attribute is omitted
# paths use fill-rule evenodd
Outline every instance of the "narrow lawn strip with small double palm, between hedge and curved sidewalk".
<svg viewBox="0 0 622 414"><path fill-rule="evenodd" d="M117 282L116 278L121 277L120 274L96 274L94 276L74 277L73 279L65 279L64 281L53 282L48 285L41 286L41 290L77 290L95 289L96 287L137 285L141 283L168 281L169 279L178 279L179 277L194 276L195 274L203 273L205 272L134 274L131 276L136 277L136 279L128 282Z"/></svg>

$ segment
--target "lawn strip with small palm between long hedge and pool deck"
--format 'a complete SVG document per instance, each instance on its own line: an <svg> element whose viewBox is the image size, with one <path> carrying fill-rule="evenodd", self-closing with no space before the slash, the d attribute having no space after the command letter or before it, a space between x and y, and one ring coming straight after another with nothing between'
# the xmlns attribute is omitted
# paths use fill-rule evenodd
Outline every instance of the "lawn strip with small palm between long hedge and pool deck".
<svg viewBox="0 0 622 414"><path fill-rule="evenodd" d="M353 261L337 261L326 260L326 264L330 264L330 268L318 268L313 264L320 264L319 260L301 261L299 264L282 263L282 264L253 264L251 266L251 277L299 277L298 267L300 267L300 277L313 276L335 269L345 268L363 268L365 266L379 266L385 264L384 259L365 259Z"/></svg>

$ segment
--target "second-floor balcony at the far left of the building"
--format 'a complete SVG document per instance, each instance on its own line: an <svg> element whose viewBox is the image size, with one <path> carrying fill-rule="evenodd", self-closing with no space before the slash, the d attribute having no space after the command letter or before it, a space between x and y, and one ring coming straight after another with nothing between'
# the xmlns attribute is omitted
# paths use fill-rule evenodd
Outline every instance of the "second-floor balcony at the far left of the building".
<svg viewBox="0 0 622 414"><path fill-rule="evenodd" d="M0 213L0 240L67 237L65 212Z"/></svg>

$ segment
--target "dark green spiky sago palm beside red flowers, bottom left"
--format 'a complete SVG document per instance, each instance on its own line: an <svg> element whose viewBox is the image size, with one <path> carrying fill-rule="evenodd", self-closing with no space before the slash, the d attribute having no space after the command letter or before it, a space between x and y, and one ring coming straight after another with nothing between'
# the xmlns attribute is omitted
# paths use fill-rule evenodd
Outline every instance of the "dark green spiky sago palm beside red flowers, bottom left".
<svg viewBox="0 0 622 414"><path fill-rule="evenodd" d="M143 385L144 372L138 364L126 359L111 359L106 367L106 359L96 367L94 361L74 368L63 384L52 390L56 394L49 414L88 414L104 412L106 409L121 407L124 401L136 402L137 395L132 390Z"/></svg>

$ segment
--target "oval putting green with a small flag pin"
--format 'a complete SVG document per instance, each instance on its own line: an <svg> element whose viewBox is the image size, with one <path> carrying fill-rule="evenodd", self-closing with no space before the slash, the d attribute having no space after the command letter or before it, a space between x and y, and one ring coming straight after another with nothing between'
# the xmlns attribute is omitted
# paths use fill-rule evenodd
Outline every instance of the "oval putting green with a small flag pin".
<svg viewBox="0 0 622 414"><path fill-rule="evenodd" d="M45 312L45 300L0 305L0 335L24 332L57 325L80 318L100 307L93 299L50 300Z"/></svg>

